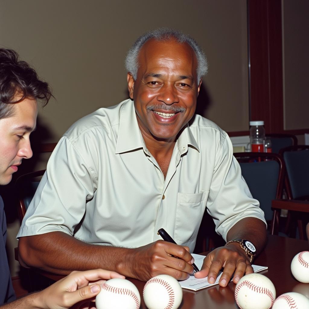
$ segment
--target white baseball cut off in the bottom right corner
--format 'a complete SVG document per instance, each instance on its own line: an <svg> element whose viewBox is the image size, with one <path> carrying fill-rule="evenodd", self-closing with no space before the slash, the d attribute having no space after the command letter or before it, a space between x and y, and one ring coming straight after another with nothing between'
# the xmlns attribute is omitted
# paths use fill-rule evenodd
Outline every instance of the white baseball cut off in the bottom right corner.
<svg viewBox="0 0 309 309"><path fill-rule="evenodd" d="M309 308L309 299L303 294L289 292L280 295L273 303L272 309L307 309Z"/></svg>

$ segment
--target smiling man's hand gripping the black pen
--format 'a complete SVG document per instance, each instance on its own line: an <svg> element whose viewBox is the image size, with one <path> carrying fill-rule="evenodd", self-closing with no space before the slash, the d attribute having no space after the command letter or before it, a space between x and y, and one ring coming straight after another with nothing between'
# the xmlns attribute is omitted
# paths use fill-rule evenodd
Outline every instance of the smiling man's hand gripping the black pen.
<svg viewBox="0 0 309 309"><path fill-rule="evenodd" d="M131 276L142 281L161 274L184 280L193 273L194 259L188 247L158 240L133 249L129 263Z"/></svg>

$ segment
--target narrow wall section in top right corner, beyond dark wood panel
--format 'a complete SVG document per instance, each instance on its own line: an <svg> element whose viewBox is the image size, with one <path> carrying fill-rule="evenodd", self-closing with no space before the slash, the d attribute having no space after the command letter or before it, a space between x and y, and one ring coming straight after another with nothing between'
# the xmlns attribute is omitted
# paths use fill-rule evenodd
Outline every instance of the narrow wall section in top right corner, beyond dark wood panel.
<svg viewBox="0 0 309 309"><path fill-rule="evenodd" d="M308 0L282 1L283 98L286 130L309 127L308 12Z"/></svg>

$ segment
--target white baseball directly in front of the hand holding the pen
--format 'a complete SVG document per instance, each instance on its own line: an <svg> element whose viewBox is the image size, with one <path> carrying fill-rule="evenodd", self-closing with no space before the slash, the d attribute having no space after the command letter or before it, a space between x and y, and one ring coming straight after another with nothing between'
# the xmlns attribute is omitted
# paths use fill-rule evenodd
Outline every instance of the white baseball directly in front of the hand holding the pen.
<svg viewBox="0 0 309 309"><path fill-rule="evenodd" d="M148 309L176 309L182 300L182 289L175 278L159 275L146 282L143 297Z"/></svg>

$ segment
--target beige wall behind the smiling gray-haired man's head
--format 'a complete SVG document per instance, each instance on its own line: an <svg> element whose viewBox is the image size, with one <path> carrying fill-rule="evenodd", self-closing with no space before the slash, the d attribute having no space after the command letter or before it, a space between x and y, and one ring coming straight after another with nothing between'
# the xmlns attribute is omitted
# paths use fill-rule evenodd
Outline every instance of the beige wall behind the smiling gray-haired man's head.
<svg viewBox="0 0 309 309"><path fill-rule="evenodd" d="M193 36L206 53L199 113L226 131L247 130L246 1L0 0L0 46L30 62L57 99L40 109L33 135L57 142L80 117L127 99L125 54L139 35L163 26ZM33 169L44 168L46 158L35 163ZM18 220L8 227L15 275Z"/></svg>

